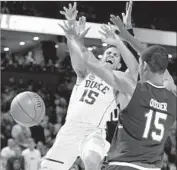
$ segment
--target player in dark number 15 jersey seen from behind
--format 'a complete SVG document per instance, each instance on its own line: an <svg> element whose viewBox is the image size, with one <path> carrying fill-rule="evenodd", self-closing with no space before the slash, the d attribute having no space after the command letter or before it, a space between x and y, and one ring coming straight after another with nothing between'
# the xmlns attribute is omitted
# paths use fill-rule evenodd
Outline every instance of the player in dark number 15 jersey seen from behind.
<svg viewBox="0 0 177 170"><path fill-rule="evenodd" d="M126 35L121 23L118 27L124 40L141 54L141 83L120 113L106 169L160 169L164 143L176 120L176 88L166 69L168 53L160 46L143 48L135 38Z"/></svg>

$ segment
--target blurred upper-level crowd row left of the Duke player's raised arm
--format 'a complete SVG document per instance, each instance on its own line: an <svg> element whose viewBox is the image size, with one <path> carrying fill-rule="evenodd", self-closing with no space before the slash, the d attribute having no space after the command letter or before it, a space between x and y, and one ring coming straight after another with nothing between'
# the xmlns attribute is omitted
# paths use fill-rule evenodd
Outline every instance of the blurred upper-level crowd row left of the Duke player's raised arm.
<svg viewBox="0 0 177 170"><path fill-rule="evenodd" d="M41 57L41 60L43 58L44 57ZM43 59L42 61L37 62L32 51L29 51L24 55L1 53L1 70L17 72L65 72L66 69L71 70L70 65L67 64L70 61L67 60L69 60L69 57L66 58L62 64L58 60L54 61L52 59L48 59L47 61Z"/></svg>

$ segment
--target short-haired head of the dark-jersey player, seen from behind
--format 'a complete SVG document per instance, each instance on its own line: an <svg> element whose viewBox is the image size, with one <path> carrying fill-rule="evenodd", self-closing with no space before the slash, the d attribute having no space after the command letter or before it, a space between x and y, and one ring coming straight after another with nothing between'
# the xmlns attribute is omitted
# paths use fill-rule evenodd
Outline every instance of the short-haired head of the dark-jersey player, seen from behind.
<svg viewBox="0 0 177 170"><path fill-rule="evenodd" d="M153 73L164 73L168 67L168 53L165 48L153 45L145 50L141 56Z"/></svg>

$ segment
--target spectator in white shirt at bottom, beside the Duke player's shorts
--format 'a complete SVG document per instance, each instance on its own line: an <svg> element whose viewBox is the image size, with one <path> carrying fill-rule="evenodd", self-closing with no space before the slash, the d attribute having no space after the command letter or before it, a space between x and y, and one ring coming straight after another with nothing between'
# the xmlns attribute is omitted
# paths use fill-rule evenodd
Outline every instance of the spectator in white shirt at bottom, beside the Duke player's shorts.
<svg viewBox="0 0 177 170"><path fill-rule="evenodd" d="M33 138L28 139L28 148L22 152L25 159L25 170L39 170L41 154L39 150L35 149L35 142Z"/></svg>

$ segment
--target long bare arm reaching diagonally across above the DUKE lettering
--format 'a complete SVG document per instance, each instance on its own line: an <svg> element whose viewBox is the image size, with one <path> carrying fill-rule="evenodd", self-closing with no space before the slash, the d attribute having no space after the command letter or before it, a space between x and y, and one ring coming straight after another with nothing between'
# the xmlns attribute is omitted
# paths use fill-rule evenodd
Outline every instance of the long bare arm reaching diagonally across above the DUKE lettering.
<svg viewBox="0 0 177 170"><path fill-rule="evenodd" d="M94 72L97 76L102 78L113 88L123 93L124 96L128 97L133 94L137 83L136 81L132 82L132 80L130 80L129 77L126 77L125 73L123 72L113 72L112 70L108 69L102 62L97 60L93 53L89 52L82 41L80 41L80 36L77 35L73 27L65 25L64 27L61 26L61 28L64 30L65 34L73 44L73 48L75 49L76 54L81 57L80 59L84 61L85 65L90 71ZM87 32L87 30L85 32ZM121 40L119 39L119 41ZM124 44L122 43L121 45L123 46Z"/></svg>

